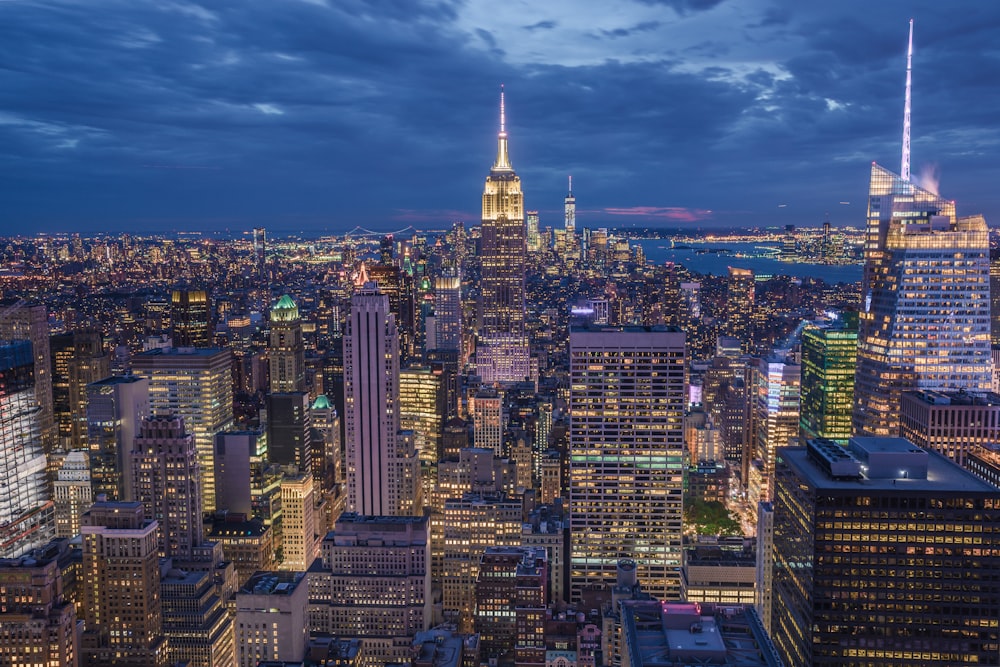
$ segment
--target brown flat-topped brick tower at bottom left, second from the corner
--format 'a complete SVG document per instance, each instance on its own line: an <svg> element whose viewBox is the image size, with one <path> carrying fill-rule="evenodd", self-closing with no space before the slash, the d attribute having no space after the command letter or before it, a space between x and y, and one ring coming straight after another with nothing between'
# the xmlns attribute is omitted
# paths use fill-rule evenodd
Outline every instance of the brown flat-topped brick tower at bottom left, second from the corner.
<svg viewBox="0 0 1000 667"><path fill-rule="evenodd" d="M80 530L82 664L166 665L156 521L140 502L97 502Z"/></svg>

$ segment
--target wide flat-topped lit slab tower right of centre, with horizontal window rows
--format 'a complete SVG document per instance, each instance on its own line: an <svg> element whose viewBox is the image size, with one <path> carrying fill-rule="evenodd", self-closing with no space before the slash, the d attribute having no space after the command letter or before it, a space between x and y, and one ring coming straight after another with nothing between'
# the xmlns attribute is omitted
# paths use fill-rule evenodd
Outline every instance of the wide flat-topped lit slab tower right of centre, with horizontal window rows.
<svg viewBox="0 0 1000 667"><path fill-rule="evenodd" d="M680 592L684 334L570 330L570 600L632 558L643 586Z"/></svg>

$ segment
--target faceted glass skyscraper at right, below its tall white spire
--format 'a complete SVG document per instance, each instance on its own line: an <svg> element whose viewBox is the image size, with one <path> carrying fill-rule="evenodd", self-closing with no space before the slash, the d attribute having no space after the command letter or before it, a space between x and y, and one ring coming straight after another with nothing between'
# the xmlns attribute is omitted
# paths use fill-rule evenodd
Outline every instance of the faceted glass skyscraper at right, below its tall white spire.
<svg viewBox="0 0 1000 667"><path fill-rule="evenodd" d="M989 261L982 216L872 164L856 433L895 435L908 389L990 389Z"/></svg>

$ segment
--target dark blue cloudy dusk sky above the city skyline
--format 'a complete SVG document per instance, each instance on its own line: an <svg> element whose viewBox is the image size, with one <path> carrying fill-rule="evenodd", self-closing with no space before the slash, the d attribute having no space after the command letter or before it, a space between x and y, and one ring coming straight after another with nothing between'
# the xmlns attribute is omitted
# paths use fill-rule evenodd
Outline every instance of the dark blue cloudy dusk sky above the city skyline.
<svg viewBox="0 0 1000 667"><path fill-rule="evenodd" d="M501 83L543 225L859 225L910 17L913 172L996 224L998 2L0 0L0 234L474 223Z"/></svg>

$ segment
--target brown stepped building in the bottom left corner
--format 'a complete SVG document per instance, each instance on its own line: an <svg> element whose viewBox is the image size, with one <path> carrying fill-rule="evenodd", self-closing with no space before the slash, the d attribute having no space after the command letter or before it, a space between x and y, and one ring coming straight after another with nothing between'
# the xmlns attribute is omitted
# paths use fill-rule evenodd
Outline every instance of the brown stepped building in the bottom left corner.
<svg viewBox="0 0 1000 667"><path fill-rule="evenodd" d="M0 663L23 667L79 664L76 609L58 560L35 552L0 560Z"/></svg>

